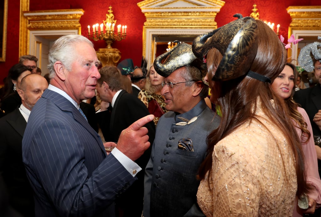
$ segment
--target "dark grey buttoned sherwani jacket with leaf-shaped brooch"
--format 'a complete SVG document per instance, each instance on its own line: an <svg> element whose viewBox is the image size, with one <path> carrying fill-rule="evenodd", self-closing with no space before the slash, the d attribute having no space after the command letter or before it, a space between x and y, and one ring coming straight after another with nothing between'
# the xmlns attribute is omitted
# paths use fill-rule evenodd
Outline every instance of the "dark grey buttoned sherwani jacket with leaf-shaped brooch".
<svg viewBox="0 0 321 217"><path fill-rule="evenodd" d="M184 118L195 117L197 119L192 123L184 121ZM177 125L179 122L187 124ZM145 169L145 217L204 216L196 202L200 183L196 174L205 158L206 137L219 123L220 117L204 100L184 114L170 111L160 117L151 158ZM194 151L178 149L182 139L192 141Z"/></svg>

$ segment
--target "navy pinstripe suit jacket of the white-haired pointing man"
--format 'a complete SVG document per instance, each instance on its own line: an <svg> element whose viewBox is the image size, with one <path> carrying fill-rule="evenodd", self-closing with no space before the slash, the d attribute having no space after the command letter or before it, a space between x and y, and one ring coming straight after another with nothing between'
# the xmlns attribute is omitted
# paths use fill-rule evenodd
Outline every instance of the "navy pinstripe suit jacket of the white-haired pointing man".
<svg viewBox="0 0 321 217"><path fill-rule="evenodd" d="M46 90L30 114L22 159L36 216L112 216L106 210L134 178L75 106Z"/></svg>

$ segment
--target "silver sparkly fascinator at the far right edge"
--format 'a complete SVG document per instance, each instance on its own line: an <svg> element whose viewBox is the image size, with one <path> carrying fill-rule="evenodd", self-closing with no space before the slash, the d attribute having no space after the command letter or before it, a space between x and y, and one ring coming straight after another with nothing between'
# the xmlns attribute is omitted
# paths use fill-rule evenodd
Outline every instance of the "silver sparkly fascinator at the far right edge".
<svg viewBox="0 0 321 217"><path fill-rule="evenodd" d="M321 40L321 36L318 36L318 39ZM304 70L313 72L313 58L321 62L321 42L315 41L301 48L298 62Z"/></svg>

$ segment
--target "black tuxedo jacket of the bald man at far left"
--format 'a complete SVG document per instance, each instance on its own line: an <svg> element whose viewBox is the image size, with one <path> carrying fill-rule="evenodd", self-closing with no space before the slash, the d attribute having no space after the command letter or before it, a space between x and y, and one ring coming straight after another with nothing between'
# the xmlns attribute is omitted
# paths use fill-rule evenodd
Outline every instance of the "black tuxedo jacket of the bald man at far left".
<svg viewBox="0 0 321 217"><path fill-rule="evenodd" d="M22 162L22 136L26 125L19 108L0 119L0 176L11 207L23 216L34 216L33 191Z"/></svg>

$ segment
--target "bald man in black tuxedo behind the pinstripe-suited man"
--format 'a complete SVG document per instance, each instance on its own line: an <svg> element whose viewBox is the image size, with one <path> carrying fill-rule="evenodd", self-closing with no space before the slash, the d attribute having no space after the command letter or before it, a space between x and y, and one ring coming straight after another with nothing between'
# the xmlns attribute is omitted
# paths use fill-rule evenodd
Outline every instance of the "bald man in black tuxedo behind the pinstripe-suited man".
<svg viewBox="0 0 321 217"><path fill-rule="evenodd" d="M7 210L0 210L0 213L34 216L33 191L22 162L22 136L30 111L48 88L48 82L39 74L28 74L22 78L20 88L17 91L22 104L0 119L0 178L4 180L7 195L1 201L9 205L2 206Z"/></svg>

